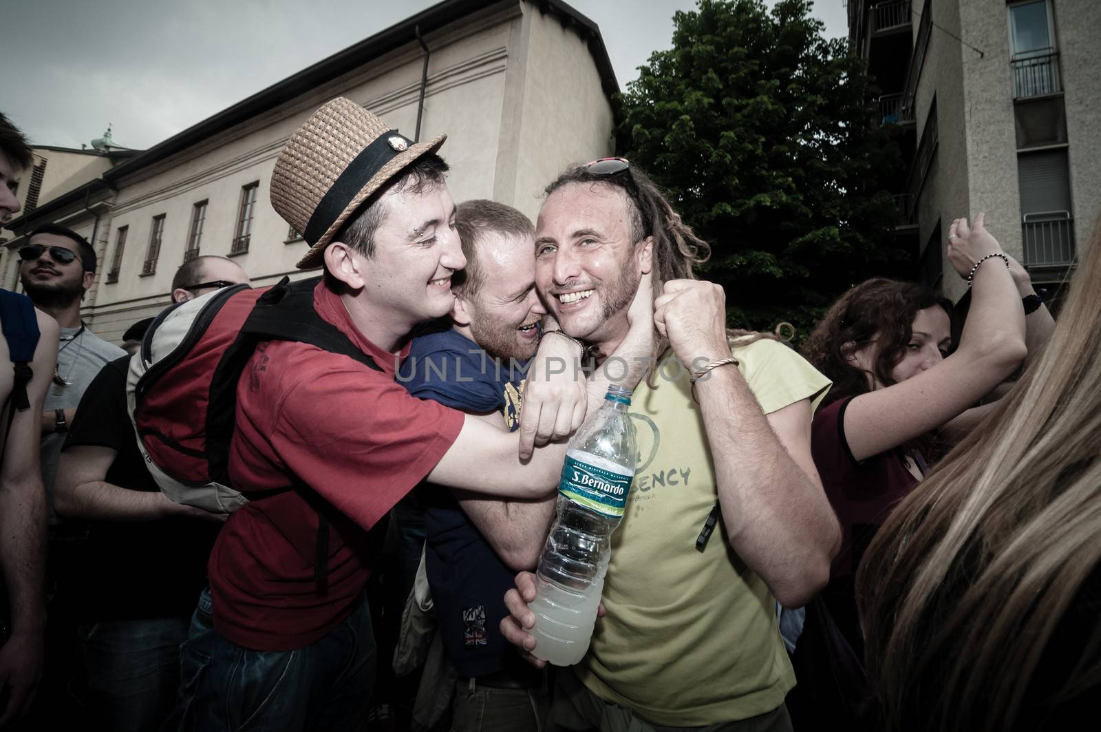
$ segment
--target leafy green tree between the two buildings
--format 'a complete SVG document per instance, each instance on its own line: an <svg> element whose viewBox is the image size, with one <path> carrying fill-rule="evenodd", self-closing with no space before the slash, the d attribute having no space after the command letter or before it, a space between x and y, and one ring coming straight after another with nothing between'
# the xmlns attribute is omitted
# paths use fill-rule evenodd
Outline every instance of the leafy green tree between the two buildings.
<svg viewBox="0 0 1101 732"><path fill-rule="evenodd" d="M621 96L619 148L712 245L731 325L802 340L850 286L904 272L887 191L898 148L847 41L810 0L700 0Z"/></svg>

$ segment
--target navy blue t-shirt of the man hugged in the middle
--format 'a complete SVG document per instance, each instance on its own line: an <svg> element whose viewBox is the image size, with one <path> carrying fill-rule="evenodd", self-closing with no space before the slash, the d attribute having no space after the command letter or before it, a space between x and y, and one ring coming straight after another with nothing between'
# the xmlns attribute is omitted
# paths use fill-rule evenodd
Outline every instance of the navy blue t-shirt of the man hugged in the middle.
<svg viewBox="0 0 1101 732"><path fill-rule="evenodd" d="M466 412L504 412L514 430L520 415L519 384L526 362L498 362L477 343L448 330L413 340L399 381L415 397L434 399ZM461 678L479 678L515 669L526 670L515 649L501 635L508 614L504 593L515 572L462 513L451 492L422 483L425 510L425 566L432 588L440 638Z"/></svg>

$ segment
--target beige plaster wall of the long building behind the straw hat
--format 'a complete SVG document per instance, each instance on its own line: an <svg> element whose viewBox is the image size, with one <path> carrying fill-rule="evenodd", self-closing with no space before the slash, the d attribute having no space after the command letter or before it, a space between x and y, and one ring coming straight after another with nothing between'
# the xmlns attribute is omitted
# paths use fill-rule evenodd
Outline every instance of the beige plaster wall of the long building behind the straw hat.
<svg viewBox="0 0 1101 732"><path fill-rule="evenodd" d="M421 139L446 132L440 153L451 166L448 185L460 202L495 198L534 220L542 189L560 170L612 152L612 110L586 41L554 13L510 0L490 6L424 41L430 50ZM416 41L374 58L275 109L252 117L117 181L97 233L100 267L83 315L99 335L119 342L134 321L170 301L172 277L184 260L194 206L207 202L201 255L229 255L241 190L259 181L251 240L233 259L254 284L284 274L306 277L295 262L307 245L288 239L288 225L271 207L269 185L280 149L321 104L347 96L412 138L424 51ZM152 223L165 224L155 270L143 274ZM91 217L73 223L91 233ZM73 224L67 224L73 225ZM76 226L73 226L77 228ZM107 281L119 230L126 228L118 280Z"/></svg>

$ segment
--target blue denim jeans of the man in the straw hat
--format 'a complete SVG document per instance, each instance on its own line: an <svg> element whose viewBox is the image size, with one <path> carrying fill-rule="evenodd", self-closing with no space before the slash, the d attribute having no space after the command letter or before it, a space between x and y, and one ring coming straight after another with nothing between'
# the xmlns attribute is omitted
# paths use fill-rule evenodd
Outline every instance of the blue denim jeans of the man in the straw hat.
<svg viewBox="0 0 1101 732"><path fill-rule="evenodd" d="M363 595L323 638L294 650L252 650L218 634L204 590L181 647L179 695L164 730L357 730L374 683L374 636Z"/></svg>

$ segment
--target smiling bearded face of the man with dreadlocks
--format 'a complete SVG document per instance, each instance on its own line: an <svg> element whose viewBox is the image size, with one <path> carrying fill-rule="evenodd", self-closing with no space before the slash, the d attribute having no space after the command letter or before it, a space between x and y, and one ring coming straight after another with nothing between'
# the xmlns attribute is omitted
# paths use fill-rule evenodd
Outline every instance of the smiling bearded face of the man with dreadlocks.
<svg viewBox="0 0 1101 732"><path fill-rule="evenodd" d="M547 196L535 232L535 286L562 330L600 345L618 344L642 277L642 247L631 236L623 189L568 183Z"/></svg>

